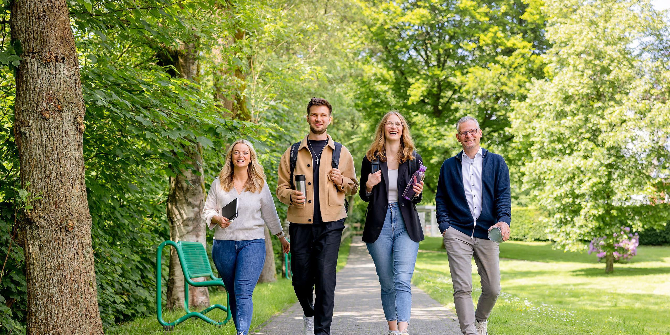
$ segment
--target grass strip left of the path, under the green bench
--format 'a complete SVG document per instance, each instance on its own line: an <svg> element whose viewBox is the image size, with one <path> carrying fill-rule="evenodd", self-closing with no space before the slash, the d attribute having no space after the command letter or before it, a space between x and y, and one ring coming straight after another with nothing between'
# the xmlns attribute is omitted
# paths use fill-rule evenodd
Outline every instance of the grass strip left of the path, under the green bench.
<svg viewBox="0 0 670 335"><path fill-rule="evenodd" d="M338 254L338 271L346 265L349 257L349 245L351 238L345 239L340 246L340 253ZM279 277L279 276L278 276ZM226 293L224 291L214 291L210 294L210 304L222 304L226 306ZM289 279L279 278L274 283L261 283L256 285L253 292L253 320L251 322L251 329L261 326L269 318L275 316L292 304L297 302L295 293L293 293L293 286ZM184 310L163 311L163 320L172 322L184 315ZM224 320L226 314L221 310L213 310L206 314L212 320ZM232 335L235 334L235 324L232 320L228 324L218 328L206 324L204 321L197 318L190 318L178 324L174 332L170 334L183 335ZM127 334L127 335L159 335L166 334L163 327L160 326L156 320L155 315L138 318L132 322L126 322L113 329L105 330L105 334Z"/></svg>

